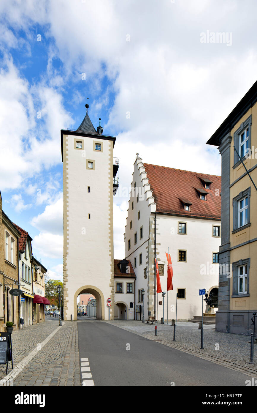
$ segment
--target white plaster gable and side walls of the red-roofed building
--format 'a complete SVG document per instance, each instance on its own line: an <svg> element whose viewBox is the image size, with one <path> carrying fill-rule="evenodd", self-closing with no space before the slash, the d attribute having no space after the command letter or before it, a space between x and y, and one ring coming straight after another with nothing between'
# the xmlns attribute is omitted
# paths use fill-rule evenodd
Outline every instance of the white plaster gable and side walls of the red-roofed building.
<svg viewBox="0 0 257 413"><path fill-rule="evenodd" d="M132 174L132 188L134 182L139 187L139 202L135 195L131 194L128 207L127 223L125 226L125 257L130 259L134 268L134 257L137 257L137 267L134 272L137 276L135 280L136 302L138 303L138 290L144 288L146 294L144 296L144 312L147 318L148 311L148 278L144 278L144 268L154 269L154 262L146 264L147 249L149 245L154 247L153 242L149 240L149 225L150 215L156 210L156 204L152 197L151 186L148 183L144 168L142 168L142 159L138 158L134 164L134 172ZM142 189L144 188L143 192ZM140 199L140 194L144 196ZM131 203L134 201L134 209L131 209ZM140 220L138 220L138 211L140 209ZM130 221L132 220L132 229L130 229ZM178 234L178 221L187 223L187 235ZM143 239L139 240L139 228L143 225L144 234ZM212 237L212 225L221 225L220 221L211 221L198 218L176 217L157 215L156 218L156 252L158 263L164 264L164 276L160 277L162 289L166 291L164 299L164 318L167 319L167 259L165 252L169 247L169 253L172 259L173 266L173 290L168 293L168 318L175 318L175 304L177 288L186 288L186 299L178 299L177 304L177 318L190 319L193 316L201 315L202 301L199 296L199 289L205 288L210 291L211 287L219 285L218 264L212 264L212 252L219 251L220 238ZM152 224L152 229L154 225ZM134 233L137 231L138 241L134 245ZM159 235L160 234L160 235ZM131 240L131 248L128 250L128 240ZM187 262L178 262L178 249L187 250ZM142 253L142 265L139 265L139 254ZM203 271L201 265L206 266L206 271ZM209 269L208 269L209 268ZM201 274L206 272L206 274ZM205 297L204 297L205 298ZM162 300L161 294L156 294L156 303ZM204 301L205 309L205 301ZM151 314L153 316L153 314ZM163 316L163 306L158 306L158 316ZM156 307L157 318L157 307Z"/></svg>

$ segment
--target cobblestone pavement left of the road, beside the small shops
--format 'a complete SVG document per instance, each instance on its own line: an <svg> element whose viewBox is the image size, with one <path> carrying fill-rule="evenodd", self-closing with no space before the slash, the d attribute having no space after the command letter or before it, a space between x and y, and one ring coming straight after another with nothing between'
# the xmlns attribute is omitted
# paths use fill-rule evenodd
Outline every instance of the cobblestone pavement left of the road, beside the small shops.
<svg viewBox="0 0 257 413"><path fill-rule="evenodd" d="M78 353L78 323L59 323L46 320L12 333L14 370L8 366L8 378L13 378L13 386L81 386ZM58 329L59 328L59 329ZM58 331L40 350L39 343ZM35 351L35 356L16 376L15 368L26 362L26 356ZM18 365L19 363L19 365ZM5 377L5 365L0 366L0 379Z"/></svg>

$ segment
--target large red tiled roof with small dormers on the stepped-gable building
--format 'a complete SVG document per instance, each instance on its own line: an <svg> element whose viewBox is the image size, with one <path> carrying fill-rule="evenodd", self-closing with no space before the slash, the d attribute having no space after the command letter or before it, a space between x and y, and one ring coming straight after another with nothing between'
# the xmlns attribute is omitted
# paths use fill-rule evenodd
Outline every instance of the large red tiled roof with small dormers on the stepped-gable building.
<svg viewBox="0 0 257 413"><path fill-rule="evenodd" d="M151 164L144 167L157 204L156 212L221 219L221 176ZM211 181L211 189L204 188L201 180ZM203 193L207 193L206 201L198 193L201 185ZM190 211L184 210L184 199L192 202Z"/></svg>

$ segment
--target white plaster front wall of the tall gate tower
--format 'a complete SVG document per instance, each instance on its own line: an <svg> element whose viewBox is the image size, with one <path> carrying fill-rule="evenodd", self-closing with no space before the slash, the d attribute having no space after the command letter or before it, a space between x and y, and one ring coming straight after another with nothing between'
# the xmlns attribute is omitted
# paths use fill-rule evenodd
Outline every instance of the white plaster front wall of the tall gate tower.
<svg viewBox="0 0 257 413"><path fill-rule="evenodd" d="M84 141L84 151L74 149L74 138ZM103 145L103 152L93 150L94 140ZM74 318L75 292L84 285L93 285L104 294L105 314L111 294L111 235L109 227L109 185L113 185L113 142L68 135L68 319ZM86 169L87 159L95 160L95 170ZM90 193L87 187L90 186ZM90 214L90 219L88 219ZM93 292L92 292L93 293ZM112 311L112 310L111 310Z"/></svg>

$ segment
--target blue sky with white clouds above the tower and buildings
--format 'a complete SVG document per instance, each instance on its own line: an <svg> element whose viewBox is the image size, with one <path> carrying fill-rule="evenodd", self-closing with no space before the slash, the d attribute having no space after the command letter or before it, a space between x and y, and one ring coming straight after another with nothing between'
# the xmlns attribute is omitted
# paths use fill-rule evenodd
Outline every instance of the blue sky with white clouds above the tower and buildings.
<svg viewBox="0 0 257 413"><path fill-rule="evenodd" d="M62 280L60 130L85 104L116 136L114 258L124 257L136 153L143 162L221 174L207 140L257 74L255 0L1 0L3 210ZM224 33L219 36L219 33ZM88 99L87 99L88 98Z"/></svg>

